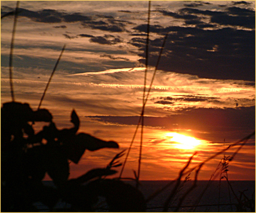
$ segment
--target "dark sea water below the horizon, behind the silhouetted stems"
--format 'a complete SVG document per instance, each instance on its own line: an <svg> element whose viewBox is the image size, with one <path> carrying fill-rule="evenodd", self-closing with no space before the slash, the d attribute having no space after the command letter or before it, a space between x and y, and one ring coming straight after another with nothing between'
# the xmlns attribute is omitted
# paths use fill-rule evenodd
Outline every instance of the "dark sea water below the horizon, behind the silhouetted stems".
<svg viewBox="0 0 256 213"><path fill-rule="evenodd" d="M134 182L126 182L133 186L135 185ZM170 181L141 181L139 189L145 199L147 199L168 183L170 183ZM211 181L210 183L208 181L197 181L197 187L193 188L191 192L188 192L189 188L193 185L193 181L188 181L184 184L181 182L182 187L170 201L168 212L235 212L237 211L236 205L239 202L245 204L248 200L253 200L252 203L255 204L255 181L229 181L229 183L231 187L228 185L227 181ZM45 181L44 184L53 186L53 183L49 181ZM147 203L147 212L162 212L165 202L170 196L175 184L176 182L151 199ZM205 192L203 193L203 191ZM186 196L183 202L180 203L180 207L176 209L181 201L181 197L184 195ZM47 207L43 206L41 203L36 203L35 205L37 208L41 209L41 211L48 211ZM55 208L61 209L64 207L69 207L69 204L60 201ZM255 210L251 211L248 207L244 208L244 210L255 212ZM107 210L99 209L99 212L105 211Z"/></svg>

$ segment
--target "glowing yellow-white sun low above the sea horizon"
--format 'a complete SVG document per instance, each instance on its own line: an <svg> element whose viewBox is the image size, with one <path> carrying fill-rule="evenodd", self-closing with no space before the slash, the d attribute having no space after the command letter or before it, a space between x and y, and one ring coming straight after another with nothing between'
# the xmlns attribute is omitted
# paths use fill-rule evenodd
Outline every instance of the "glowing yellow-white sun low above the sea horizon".
<svg viewBox="0 0 256 213"><path fill-rule="evenodd" d="M191 136L181 135L176 132L168 132L165 136L168 140L174 143L174 146L178 149L191 150L200 144L200 140Z"/></svg>

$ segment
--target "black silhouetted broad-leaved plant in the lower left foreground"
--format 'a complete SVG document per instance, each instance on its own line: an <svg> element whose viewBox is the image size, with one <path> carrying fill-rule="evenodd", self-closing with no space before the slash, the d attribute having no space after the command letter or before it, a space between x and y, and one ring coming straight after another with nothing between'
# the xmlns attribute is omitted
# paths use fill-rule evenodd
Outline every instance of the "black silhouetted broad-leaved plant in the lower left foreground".
<svg viewBox="0 0 256 213"><path fill-rule="evenodd" d="M1 115L1 211L35 211L32 204L37 201L53 209L59 199L70 203L70 210L92 211L98 196L106 197L111 211L145 210L144 197L137 189L105 179L117 172L112 168L121 166L117 159L123 151L106 168L68 180L69 160L78 163L85 150L118 148L114 141L77 133L80 120L75 110L71 113L74 127L62 130L53 123L47 109L33 111L29 104L4 103ZM48 125L35 133L32 124L42 121ZM46 173L56 188L43 185Z"/></svg>

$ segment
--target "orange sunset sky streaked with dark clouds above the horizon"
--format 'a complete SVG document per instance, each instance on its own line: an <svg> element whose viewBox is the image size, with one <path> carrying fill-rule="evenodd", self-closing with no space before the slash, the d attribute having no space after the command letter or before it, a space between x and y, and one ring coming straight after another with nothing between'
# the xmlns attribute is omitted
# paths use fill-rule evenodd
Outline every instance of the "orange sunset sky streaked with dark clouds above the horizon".
<svg viewBox="0 0 256 213"><path fill-rule="evenodd" d="M15 100L37 109L66 44L41 108L50 110L59 129L72 127L75 109L79 132L120 146L86 151L78 165L70 164L70 178L107 166L131 143L143 102L148 5L20 1ZM16 1L1 1L1 15L15 7ZM13 16L1 20L1 103L11 101L12 27ZM149 30L147 89L168 37L145 107L140 179L172 180L195 151L192 166L255 130L255 1L151 1ZM123 177L137 171L139 132ZM208 180L222 157L205 164L199 179ZM255 137L228 172L230 180L255 180Z"/></svg>

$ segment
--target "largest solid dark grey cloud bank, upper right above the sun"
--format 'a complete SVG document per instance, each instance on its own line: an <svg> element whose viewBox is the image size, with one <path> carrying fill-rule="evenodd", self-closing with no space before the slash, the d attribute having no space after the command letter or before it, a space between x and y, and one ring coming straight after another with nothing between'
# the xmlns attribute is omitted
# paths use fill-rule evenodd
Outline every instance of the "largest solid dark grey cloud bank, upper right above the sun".
<svg viewBox="0 0 256 213"><path fill-rule="evenodd" d="M202 27L202 26L201 26ZM146 25L136 27L146 32ZM150 32L169 32L159 69L197 75L199 78L241 79L255 81L255 31L225 27L203 30L198 27L150 26ZM145 58L145 39L133 37L129 41L139 47ZM162 46L163 38L150 40L150 48ZM214 49L215 48L215 49ZM149 65L155 66L157 57L150 54ZM145 59L139 62L145 63Z"/></svg>

